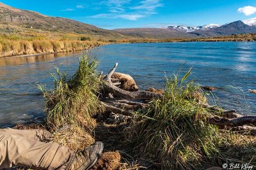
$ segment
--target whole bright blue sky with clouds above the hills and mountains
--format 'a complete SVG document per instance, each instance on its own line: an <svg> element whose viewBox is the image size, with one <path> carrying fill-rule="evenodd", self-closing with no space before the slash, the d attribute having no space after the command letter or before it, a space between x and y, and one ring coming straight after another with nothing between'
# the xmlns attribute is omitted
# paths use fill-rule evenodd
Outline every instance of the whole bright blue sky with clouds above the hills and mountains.
<svg viewBox="0 0 256 170"><path fill-rule="evenodd" d="M256 17L255 0L1 0L104 29L225 24Z"/></svg>

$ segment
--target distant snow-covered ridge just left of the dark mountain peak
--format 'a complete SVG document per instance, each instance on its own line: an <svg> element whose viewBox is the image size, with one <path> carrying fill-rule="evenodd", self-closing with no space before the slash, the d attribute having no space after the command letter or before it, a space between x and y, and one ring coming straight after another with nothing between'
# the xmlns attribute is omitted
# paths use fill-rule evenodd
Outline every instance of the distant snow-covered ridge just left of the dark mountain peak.
<svg viewBox="0 0 256 170"><path fill-rule="evenodd" d="M176 31L182 31L182 32L193 32L200 29L211 29L211 28L220 27L220 26L221 25L218 25L218 24L209 24L209 25L203 25L198 27L188 27L188 26L179 25L179 26L169 26L168 28L174 29Z"/></svg>

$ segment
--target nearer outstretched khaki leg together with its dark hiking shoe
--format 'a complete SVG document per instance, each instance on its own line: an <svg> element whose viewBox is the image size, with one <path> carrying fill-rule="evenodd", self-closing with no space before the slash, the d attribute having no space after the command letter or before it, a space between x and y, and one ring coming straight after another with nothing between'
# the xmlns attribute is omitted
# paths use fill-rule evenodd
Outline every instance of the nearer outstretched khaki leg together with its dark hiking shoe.
<svg viewBox="0 0 256 170"><path fill-rule="evenodd" d="M0 133L0 169L13 166L39 169L88 169L99 159L103 143L97 142L74 154L66 146L42 143L22 135ZM19 131L15 131L19 132ZM22 133L22 131L20 131ZM23 131L24 132L24 131Z"/></svg>

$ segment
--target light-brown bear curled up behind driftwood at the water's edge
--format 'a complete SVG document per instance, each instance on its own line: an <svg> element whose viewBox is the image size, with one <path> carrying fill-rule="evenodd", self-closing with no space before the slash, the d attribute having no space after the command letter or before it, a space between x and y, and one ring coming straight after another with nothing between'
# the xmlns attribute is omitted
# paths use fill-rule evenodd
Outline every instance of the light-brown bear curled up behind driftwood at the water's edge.
<svg viewBox="0 0 256 170"><path fill-rule="evenodd" d="M127 90L130 92L136 92L139 90L139 87L136 85L135 81L129 74L124 73L113 73L111 78L119 80L121 85L120 89Z"/></svg>

